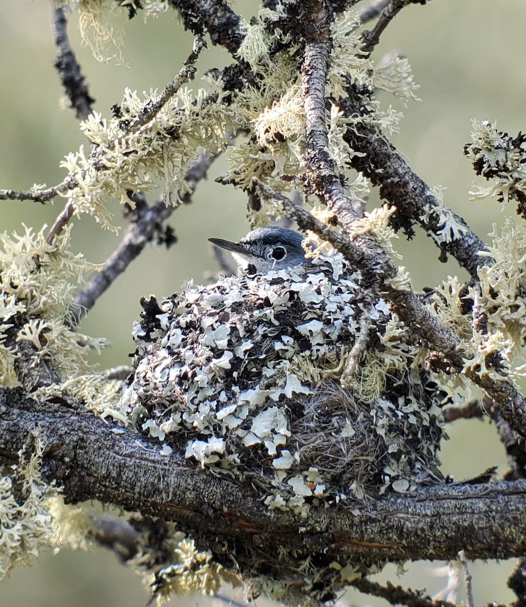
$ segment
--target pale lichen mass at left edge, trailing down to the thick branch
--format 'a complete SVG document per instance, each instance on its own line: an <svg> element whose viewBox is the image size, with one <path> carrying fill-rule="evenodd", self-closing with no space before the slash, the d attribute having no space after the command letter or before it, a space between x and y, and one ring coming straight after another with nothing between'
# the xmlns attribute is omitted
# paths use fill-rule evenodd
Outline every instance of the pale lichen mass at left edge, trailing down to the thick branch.
<svg viewBox="0 0 526 607"><path fill-rule="evenodd" d="M110 415L118 398L116 382L107 382L88 362L106 339L73 331L67 326L73 297L87 273L98 266L70 249L71 226L52 244L40 232L2 234L0 249L0 372L1 385L19 385L15 360L24 342L30 344L32 364L51 361L53 370L67 382L46 385L33 392L39 398L64 391L86 402L101 415ZM118 413L115 412L115 416Z"/></svg>

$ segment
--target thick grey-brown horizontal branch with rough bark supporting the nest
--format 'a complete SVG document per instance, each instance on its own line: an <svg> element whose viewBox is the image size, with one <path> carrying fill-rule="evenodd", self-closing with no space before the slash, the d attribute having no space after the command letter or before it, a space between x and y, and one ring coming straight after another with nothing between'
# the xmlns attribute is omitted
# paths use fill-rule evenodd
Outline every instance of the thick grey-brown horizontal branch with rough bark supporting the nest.
<svg viewBox="0 0 526 607"><path fill-rule="evenodd" d="M25 437L36 429L45 445L42 478L63 487L66 501L96 499L177 521L203 548L221 551L216 541L225 540L257 545L268 554L286 546L356 563L453 559L460 549L468 558L526 551L524 480L425 487L360 504L359 514L343 504L312 508L308 518L300 518L269 510L251 484L218 478L177 453L160 455L158 443L132 430L113 433L78 406L0 391L0 455L16 461Z"/></svg>

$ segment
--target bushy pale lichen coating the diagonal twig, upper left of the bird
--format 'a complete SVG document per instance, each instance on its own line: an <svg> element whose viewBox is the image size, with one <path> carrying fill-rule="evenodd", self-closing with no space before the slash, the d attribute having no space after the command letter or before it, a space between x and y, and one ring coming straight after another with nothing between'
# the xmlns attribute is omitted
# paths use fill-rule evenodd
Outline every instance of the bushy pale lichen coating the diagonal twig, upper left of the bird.
<svg viewBox="0 0 526 607"><path fill-rule="evenodd" d="M76 214L87 212L104 227L111 227L107 200L129 202L128 190L149 191L158 185L164 188L166 203L177 204L177 192L189 191L184 180L188 163L198 158L201 148L209 154L225 149L225 133L237 122L235 110L224 103L226 93L220 81L206 80L207 91L180 89L152 120L132 131L126 125L155 97L154 91L140 98L126 89L119 118L107 121L92 114L81 123L96 152L86 155L81 146L61 165L78 181L66 194Z"/></svg>

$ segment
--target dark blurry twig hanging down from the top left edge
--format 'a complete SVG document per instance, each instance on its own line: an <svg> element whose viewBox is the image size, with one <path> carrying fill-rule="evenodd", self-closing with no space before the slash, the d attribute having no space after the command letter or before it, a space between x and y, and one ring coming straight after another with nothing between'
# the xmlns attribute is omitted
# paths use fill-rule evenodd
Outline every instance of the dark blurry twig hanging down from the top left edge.
<svg viewBox="0 0 526 607"><path fill-rule="evenodd" d="M86 120L92 113L92 103L95 103L95 100L89 94L88 87L84 83L84 76L75 58L75 53L73 53L69 44L64 8L58 6L56 0L53 0L52 10L52 24L57 51L55 67L60 75L62 86L66 90L66 95L70 100L70 107L75 110L76 117L79 120Z"/></svg>

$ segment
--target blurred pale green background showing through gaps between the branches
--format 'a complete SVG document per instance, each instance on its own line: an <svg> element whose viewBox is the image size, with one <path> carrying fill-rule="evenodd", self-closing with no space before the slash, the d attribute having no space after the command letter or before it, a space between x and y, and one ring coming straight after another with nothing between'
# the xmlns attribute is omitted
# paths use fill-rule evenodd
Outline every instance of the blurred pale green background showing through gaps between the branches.
<svg viewBox="0 0 526 607"><path fill-rule="evenodd" d="M234 8L249 18L256 6L256 2L240 0ZM470 202L468 191L474 174L464 160L462 147L470 141L471 117L497 118L499 127L510 134L526 128L525 23L524 2L436 0L425 7L405 8L389 25L375 51L377 59L393 50L408 56L421 85L422 103L402 108L396 100L382 98L405 115L394 143L428 185L447 188L445 204L464 216L483 239L492 223L502 222L502 212L494 201ZM120 103L125 87L140 93L163 87L180 69L192 45L192 36L183 32L173 12L150 19L146 25L138 16L126 25L127 66L102 64L81 46L76 26L77 16L73 15L72 46L87 76L90 93L96 98L95 109L103 116L109 116L110 107ZM63 93L53 69L55 49L47 2L0 2L0 57L0 188L55 185L65 177L64 169L59 168L62 157L76 151L84 141L73 112L61 109L63 104L59 103ZM211 47L198 67L203 72L226 63L226 53ZM129 362L128 354L133 351L130 328L140 313L141 296L171 294L189 279L201 282L207 271L215 271L207 237L235 239L247 231L244 196L214 183L223 170L221 162L214 164L209 180L198 186L194 202L172 216L170 225L179 239L177 245L169 251L149 246L84 320L81 330L105 336L113 344L100 357L103 367ZM21 223L36 230L44 223L50 225L62 202L0 202L1 231L21 231ZM377 202L373 195L370 206ZM113 212L115 223L124 225L116 204ZM504 212L513 214L514 209L505 208ZM119 239L99 229L90 217L75 220L74 247L92 262L104 262ZM416 288L436 285L448 274L464 277L456 263L443 265L437 260L436 247L421 232L412 242L400 238L395 245ZM448 432L451 440L445 443L442 457L445 472L460 480L493 464L500 464L504 470L503 449L490 424L457 422ZM511 592L505 587L511 566L511 561L471 566L476 603L511 600ZM399 580L393 568L379 579L390 577L394 583L427 587L432 593L446 585L443 575L436 577L431 563L408 565L408 569L410 572ZM141 607L147 598L140 580L103 549L44 555L32 568L17 569L0 584L0 605L18 607ZM237 599L242 599L240 592ZM354 605L386 604L355 592L349 592L343 600ZM173 599L169 604L179 605L181 601L185 605L220 604L204 597ZM265 604L262 599L258 603Z"/></svg>

